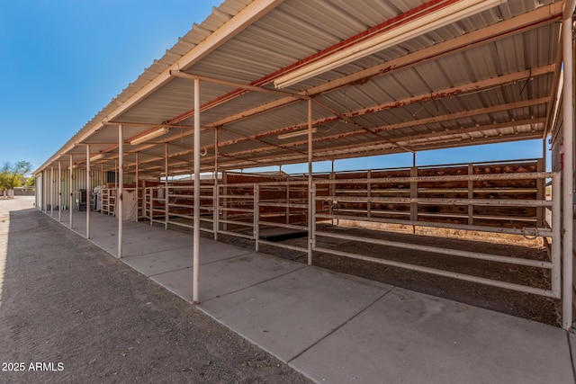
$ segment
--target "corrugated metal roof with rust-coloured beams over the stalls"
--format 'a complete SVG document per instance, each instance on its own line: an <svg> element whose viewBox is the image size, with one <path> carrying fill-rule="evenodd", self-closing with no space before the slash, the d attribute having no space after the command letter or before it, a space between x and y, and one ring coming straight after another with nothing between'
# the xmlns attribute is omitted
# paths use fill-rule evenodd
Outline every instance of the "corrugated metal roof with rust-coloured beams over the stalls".
<svg viewBox="0 0 576 384"><path fill-rule="evenodd" d="M69 155L82 166L85 144L104 154L93 166L112 169L118 128L109 122L122 122L126 164L139 153L140 172L163 174L167 150L170 173L190 173L193 80L183 74L275 90L281 76L458 1L227 0L38 171ZM276 90L284 94L202 81L201 169L213 170L216 155L220 169L307 161L307 136L279 135L307 129L308 97L315 161L545 138L562 12L562 1L501 2ZM130 145L160 124L166 135Z"/></svg>

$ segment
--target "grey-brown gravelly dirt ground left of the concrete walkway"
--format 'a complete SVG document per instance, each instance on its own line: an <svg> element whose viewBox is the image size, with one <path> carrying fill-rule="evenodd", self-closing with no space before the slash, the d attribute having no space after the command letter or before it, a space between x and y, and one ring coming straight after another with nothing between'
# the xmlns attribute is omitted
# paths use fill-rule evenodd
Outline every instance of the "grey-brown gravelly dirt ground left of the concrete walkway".
<svg viewBox="0 0 576 384"><path fill-rule="evenodd" d="M32 202L0 200L0 383L309 382Z"/></svg>

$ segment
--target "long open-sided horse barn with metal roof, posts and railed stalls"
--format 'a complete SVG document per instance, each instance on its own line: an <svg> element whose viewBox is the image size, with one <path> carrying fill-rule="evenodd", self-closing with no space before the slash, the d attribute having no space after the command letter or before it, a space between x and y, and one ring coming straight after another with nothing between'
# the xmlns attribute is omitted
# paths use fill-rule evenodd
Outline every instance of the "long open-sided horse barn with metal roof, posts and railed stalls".
<svg viewBox="0 0 576 384"><path fill-rule="evenodd" d="M139 228L184 232L194 304L224 243L569 330L574 2L226 0L35 171L37 207L89 239L107 223L124 260Z"/></svg>

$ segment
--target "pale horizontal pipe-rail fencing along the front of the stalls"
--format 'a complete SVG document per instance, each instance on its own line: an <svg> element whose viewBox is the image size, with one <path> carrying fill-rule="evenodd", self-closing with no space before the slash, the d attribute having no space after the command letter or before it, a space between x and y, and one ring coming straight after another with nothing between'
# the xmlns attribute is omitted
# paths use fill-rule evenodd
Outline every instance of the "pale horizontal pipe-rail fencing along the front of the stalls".
<svg viewBox="0 0 576 384"><path fill-rule="evenodd" d="M349 176L354 176L350 173ZM518 198L486 198L482 193L491 193L494 188L482 185L473 186L472 183L498 180L551 180L552 200L545 200L545 193L539 194L537 199L524 198L525 195L536 195L537 189L519 186L518 188L502 187L497 192L518 195ZM430 197L437 193L444 193L448 189L435 187L431 183L468 183L468 188L457 186L450 193L459 193L460 196L451 195L446 198ZM431 185L420 188L422 183ZM343 186L347 188L343 188ZM392 185L392 186L391 186ZM396 185L396 187L394 187ZM397 185L404 185L399 189ZM410 188L409 188L410 187ZM560 298L560 175L558 173L525 172L520 174L458 174L443 176L410 177L366 177L366 178L336 178L326 174L326 177L316 179L309 188L307 181L285 182L258 182L258 183L217 183L201 185L201 229L214 234L230 237L244 238L253 241L255 249L260 246L275 246L295 252L307 253L307 246L296 246L283 241L270 241L266 234L283 231L300 232L301 236L308 238L313 252L329 255L338 255L359 261L380 263L400 267L412 271L433 273L445 277L461 279L464 281L479 282L495 287L518 290L527 293L542 295L548 298ZM113 190L113 189L112 189ZM517 193L518 192L518 193ZM475 196L478 194L481 197ZM110 196L115 192L110 191ZM464 196L463 196L464 195ZM425 197L423 197L425 196ZM352 204L350 207L344 203ZM193 228L193 185L159 185L144 189L142 199L144 217L152 223L175 225ZM356 204L356 205L355 205ZM358 205L360 204L360 205ZM401 205L403 210L389 211L378 204ZM426 206L462 206L468 207L464 213L451 213L444 215L450 218L462 218L464 222L437 222L423 220L422 218L441 218L442 213L419 211ZM525 223L523 227L498 227L483 225L482 215L473 212L473 207L492 207L493 209L550 210L552 221L546 224L545 220L536 221L536 216L515 218L515 222ZM312 209L311 209L312 208ZM534 211L533 211L534 210ZM389 217L382 216L383 214ZM530 213L532 215L532 213ZM312 217L309 218L309 215ZM379 216L381 215L381 216ZM473 216L472 216L473 215ZM492 218L493 219L493 218ZM317 222L334 223L338 220L366 222L376 224L393 224L416 227L446 228L455 230L479 231L495 234L522 235L527 238L545 237L551 242L550 260L530 260L505 255L491 255L489 253L471 252L448 249L439 246L425 246L407 244L398 241L383 240L373 237L358 237L333 233L329 230L318 229ZM467 220L467 221L466 221ZM479 220L478 224L473 221ZM438 268L419 266L411 263L385 260L367 255L344 252L338 249L317 246L317 239L339 238L348 241L358 241L376 246L390 246L400 249L411 249L432 254L452 255L468 259L482 260L490 263L504 263L520 265L531 268L541 268L550 271L550 287L540 289L535 287L514 284L506 281L496 281L459 272L450 272Z"/></svg>

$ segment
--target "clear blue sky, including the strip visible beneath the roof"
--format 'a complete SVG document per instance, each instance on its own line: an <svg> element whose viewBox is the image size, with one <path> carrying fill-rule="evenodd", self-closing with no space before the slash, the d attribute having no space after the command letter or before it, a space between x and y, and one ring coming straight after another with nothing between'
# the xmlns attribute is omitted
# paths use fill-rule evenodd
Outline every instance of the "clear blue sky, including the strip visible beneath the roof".
<svg viewBox="0 0 576 384"><path fill-rule="evenodd" d="M0 164L42 165L220 0L0 0ZM419 153L418 165L541 156L542 141ZM337 170L411 165L411 154ZM314 167L328 171L329 162ZM307 166L286 165L288 172Z"/></svg>

